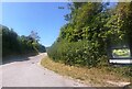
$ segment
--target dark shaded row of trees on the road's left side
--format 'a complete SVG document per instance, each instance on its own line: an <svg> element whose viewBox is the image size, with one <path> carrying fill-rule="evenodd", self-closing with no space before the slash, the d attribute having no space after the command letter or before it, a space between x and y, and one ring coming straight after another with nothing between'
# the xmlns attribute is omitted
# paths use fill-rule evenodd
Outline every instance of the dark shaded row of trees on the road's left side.
<svg viewBox="0 0 132 89"><path fill-rule="evenodd" d="M2 33L2 56L19 54L37 54L45 52L45 46L38 43L37 34L32 33L29 36L19 36L12 29L1 25Z"/></svg>

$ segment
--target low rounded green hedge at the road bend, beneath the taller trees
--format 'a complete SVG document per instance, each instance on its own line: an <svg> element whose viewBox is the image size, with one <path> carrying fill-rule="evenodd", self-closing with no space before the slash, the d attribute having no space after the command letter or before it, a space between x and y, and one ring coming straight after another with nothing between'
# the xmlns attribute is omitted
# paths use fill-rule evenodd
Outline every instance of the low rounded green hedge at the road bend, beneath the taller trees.
<svg viewBox="0 0 132 89"><path fill-rule="evenodd" d="M68 43L66 41L54 43L47 51L52 59L63 62L66 65L97 66L102 62L102 55L98 48L90 42L80 41ZM106 59L107 60L107 59Z"/></svg>

